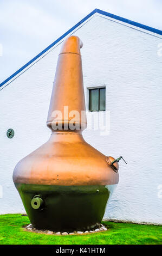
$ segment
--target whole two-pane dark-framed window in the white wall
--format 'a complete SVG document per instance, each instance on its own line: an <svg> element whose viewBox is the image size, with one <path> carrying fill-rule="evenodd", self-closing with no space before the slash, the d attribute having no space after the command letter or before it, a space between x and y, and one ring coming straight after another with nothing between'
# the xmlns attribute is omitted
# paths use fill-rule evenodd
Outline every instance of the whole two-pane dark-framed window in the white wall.
<svg viewBox="0 0 162 256"><path fill-rule="evenodd" d="M106 88L89 89L89 111L105 111Z"/></svg>

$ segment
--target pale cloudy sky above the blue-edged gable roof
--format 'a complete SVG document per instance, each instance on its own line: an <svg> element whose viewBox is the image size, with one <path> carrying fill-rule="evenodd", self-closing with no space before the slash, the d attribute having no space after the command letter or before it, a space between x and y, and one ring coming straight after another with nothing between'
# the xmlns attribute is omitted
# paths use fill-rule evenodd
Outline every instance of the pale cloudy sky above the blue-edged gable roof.
<svg viewBox="0 0 162 256"><path fill-rule="evenodd" d="M96 8L162 30L161 0L0 0L0 83Z"/></svg>

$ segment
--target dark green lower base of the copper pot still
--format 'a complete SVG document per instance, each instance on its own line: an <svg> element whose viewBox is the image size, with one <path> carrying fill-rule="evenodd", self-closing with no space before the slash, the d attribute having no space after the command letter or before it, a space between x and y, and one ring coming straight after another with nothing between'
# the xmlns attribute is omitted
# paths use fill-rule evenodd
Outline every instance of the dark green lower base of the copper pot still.
<svg viewBox="0 0 162 256"><path fill-rule="evenodd" d="M100 223L110 194L105 186L15 186L34 227L53 231L83 231ZM35 196L43 199L42 209L31 206Z"/></svg>

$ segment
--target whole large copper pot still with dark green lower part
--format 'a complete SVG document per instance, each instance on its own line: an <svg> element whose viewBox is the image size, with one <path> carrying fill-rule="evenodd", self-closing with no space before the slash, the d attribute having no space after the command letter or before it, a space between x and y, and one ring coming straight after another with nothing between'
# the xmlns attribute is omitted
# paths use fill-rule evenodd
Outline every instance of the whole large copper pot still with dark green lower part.
<svg viewBox="0 0 162 256"><path fill-rule="evenodd" d="M77 36L64 41L47 119L50 138L14 169L14 184L37 229L94 227L101 222L119 181L118 162L122 157L107 157L82 137L87 121L81 47Z"/></svg>

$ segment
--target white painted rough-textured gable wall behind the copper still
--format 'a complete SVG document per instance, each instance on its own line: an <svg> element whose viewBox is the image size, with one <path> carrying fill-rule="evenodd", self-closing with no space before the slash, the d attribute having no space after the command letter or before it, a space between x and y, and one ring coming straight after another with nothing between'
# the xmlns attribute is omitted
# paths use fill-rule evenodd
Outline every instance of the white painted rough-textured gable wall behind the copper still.
<svg viewBox="0 0 162 256"><path fill-rule="evenodd" d="M98 15L74 34L84 44L86 99L88 87L105 84L106 109L111 111L108 136L100 136L99 130L83 135L103 154L122 155L128 162L120 161L119 184L105 218L162 223L161 39ZM46 119L59 51L60 45L0 92L0 214L24 212L12 172L50 136ZM12 139L6 136L9 128L15 131Z"/></svg>

